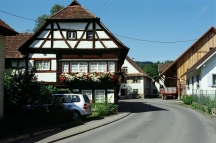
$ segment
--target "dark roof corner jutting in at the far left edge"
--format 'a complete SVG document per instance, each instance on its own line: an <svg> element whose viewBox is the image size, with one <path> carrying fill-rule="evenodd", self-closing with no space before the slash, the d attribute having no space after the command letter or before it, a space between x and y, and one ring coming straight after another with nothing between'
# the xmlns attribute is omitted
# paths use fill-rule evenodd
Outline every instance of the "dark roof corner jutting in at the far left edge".
<svg viewBox="0 0 216 143"><path fill-rule="evenodd" d="M3 20L0 19L0 34L9 36L9 35L15 35L18 34L13 28L11 28L9 25L7 25Z"/></svg>

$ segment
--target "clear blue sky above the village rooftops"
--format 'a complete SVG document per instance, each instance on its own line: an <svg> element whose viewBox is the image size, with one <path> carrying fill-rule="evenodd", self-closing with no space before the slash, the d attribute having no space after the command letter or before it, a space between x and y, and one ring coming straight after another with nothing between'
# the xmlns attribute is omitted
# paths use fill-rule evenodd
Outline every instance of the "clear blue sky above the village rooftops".
<svg viewBox="0 0 216 143"><path fill-rule="evenodd" d="M128 56L135 61L175 60L196 41L194 39L201 37L210 27L216 27L215 0L78 1L130 48ZM32 30L35 22L4 12L36 19L49 14L55 4L68 6L71 2L0 0L0 19L22 33Z"/></svg>

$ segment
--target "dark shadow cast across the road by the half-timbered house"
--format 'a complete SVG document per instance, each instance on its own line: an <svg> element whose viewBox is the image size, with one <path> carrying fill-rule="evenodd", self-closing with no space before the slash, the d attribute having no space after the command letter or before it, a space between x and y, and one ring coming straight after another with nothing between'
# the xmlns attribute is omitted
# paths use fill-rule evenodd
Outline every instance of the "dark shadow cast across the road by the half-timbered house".
<svg viewBox="0 0 216 143"><path fill-rule="evenodd" d="M168 110L146 104L145 102L136 102L136 101L119 102L119 112L141 113L141 112L152 112L152 111L168 111Z"/></svg>

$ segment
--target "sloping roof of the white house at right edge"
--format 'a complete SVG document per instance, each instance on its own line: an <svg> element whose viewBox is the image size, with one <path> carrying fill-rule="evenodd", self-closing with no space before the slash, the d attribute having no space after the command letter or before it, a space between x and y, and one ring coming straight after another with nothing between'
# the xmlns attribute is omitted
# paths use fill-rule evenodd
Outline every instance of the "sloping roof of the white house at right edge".
<svg viewBox="0 0 216 143"><path fill-rule="evenodd" d="M216 48L210 50L206 53L200 60L198 60L190 69L188 69L182 76L199 69L203 64L205 64L213 55L216 54ZM182 77L181 76L181 77Z"/></svg>

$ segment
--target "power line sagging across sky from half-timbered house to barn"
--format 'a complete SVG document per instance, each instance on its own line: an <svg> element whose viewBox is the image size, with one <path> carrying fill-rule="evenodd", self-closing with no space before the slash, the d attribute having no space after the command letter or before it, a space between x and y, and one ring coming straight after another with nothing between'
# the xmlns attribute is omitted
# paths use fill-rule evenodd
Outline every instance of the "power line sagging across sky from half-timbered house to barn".
<svg viewBox="0 0 216 143"><path fill-rule="evenodd" d="M114 33L113 33L114 34ZM127 38L127 39L131 39L131 40L136 40L136 41L142 41L142 42L152 42L152 43L183 43L183 42L190 42L190 41L195 41L197 39L193 39L193 40L182 40L182 41L151 41L151 40L145 40L145 39L137 39L137 38L131 38L131 37L127 37L127 36L122 36L122 35L118 35L118 34L114 34L116 36L120 36L123 38Z"/></svg>

